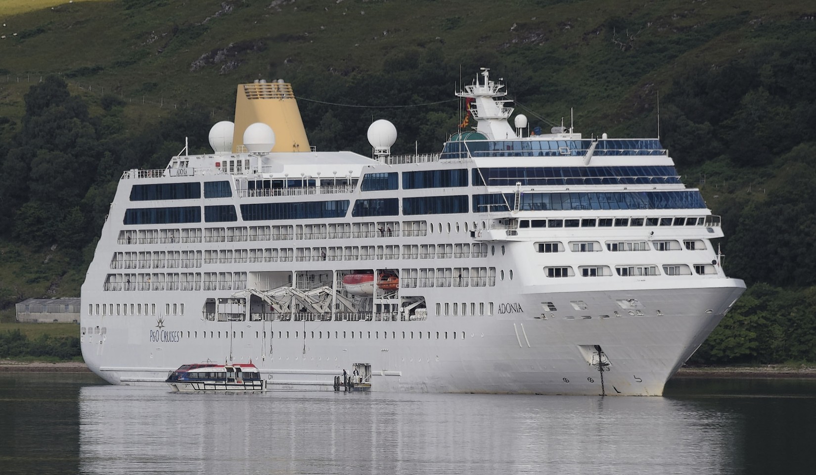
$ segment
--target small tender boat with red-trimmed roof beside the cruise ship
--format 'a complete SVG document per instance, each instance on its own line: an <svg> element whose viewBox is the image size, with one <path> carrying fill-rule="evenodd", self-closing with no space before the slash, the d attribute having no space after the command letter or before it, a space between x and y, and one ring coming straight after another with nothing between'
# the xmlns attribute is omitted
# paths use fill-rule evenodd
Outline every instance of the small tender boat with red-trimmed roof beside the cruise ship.
<svg viewBox="0 0 816 475"><path fill-rule="evenodd" d="M266 380L258 368L249 364L182 365L165 380L175 393L255 393L266 391Z"/></svg>

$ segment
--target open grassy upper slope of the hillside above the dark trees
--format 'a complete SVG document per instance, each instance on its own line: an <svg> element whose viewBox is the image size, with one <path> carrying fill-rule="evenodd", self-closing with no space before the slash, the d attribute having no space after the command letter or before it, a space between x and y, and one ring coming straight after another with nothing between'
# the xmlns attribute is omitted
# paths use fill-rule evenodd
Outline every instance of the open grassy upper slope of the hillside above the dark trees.
<svg viewBox="0 0 816 475"><path fill-rule="evenodd" d="M667 91L688 64L747 54L764 42L758 37L779 34L780 24L811 10L804 1L754 0L518 0L500 7L475 0L467 9L432 0L75 2L8 18L7 30L19 34L0 42L12 81L0 104L21 110L27 83L18 86L18 76L61 73L91 93L104 88L136 105L195 103L228 114L237 82L365 81L398 68L406 55L433 51L440 66L463 66L468 82L478 66L493 67L512 95L544 117L560 121L573 107L582 130L615 132L606 129L645 120L656 91ZM447 91L459 81L452 69ZM344 99L321 89L306 91ZM297 83L295 91L306 92ZM423 97L422 85L413 93ZM650 135L655 128L654 121L641 127Z"/></svg>

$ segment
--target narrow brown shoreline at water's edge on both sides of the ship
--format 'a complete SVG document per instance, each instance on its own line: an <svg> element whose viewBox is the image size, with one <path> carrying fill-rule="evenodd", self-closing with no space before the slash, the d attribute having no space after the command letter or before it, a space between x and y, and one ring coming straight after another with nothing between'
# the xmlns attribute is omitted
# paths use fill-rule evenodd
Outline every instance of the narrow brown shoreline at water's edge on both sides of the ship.
<svg viewBox="0 0 816 475"><path fill-rule="evenodd" d="M84 362L16 362L0 360L0 373L91 373ZM684 366L675 378L816 378L816 366Z"/></svg>

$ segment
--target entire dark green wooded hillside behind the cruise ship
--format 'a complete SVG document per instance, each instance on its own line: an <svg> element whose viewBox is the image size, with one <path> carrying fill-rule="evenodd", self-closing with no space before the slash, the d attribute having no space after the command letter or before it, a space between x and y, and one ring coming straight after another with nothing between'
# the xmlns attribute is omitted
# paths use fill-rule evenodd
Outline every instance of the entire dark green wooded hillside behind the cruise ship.
<svg viewBox="0 0 816 475"><path fill-rule="evenodd" d="M587 136L656 135L659 92L663 143L723 216L715 245L751 287L694 362L816 361L811 2L51 5L4 12L0 33L0 309L78 295L118 176L165 166L185 137L206 152L237 83L292 82L318 149L368 153L366 127L388 118L397 153L435 151L454 103L305 99L436 103L489 66L533 127L574 108Z"/></svg>

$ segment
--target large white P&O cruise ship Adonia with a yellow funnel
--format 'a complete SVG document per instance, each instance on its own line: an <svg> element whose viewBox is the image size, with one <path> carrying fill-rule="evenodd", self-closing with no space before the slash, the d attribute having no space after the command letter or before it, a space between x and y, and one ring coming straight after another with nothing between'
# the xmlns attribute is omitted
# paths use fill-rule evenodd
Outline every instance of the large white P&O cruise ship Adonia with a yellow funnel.
<svg viewBox="0 0 816 475"><path fill-rule="evenodd" d="M270 390L661 395L745 290L658 139L530 130L482 69L440 153L308 143L290 84L237 87L213 153L122 174L82 286L85 362L162 384L253 363ZM511 125L512 120L512 125ZM468 127L469 126L469 127Z"/></svg>

